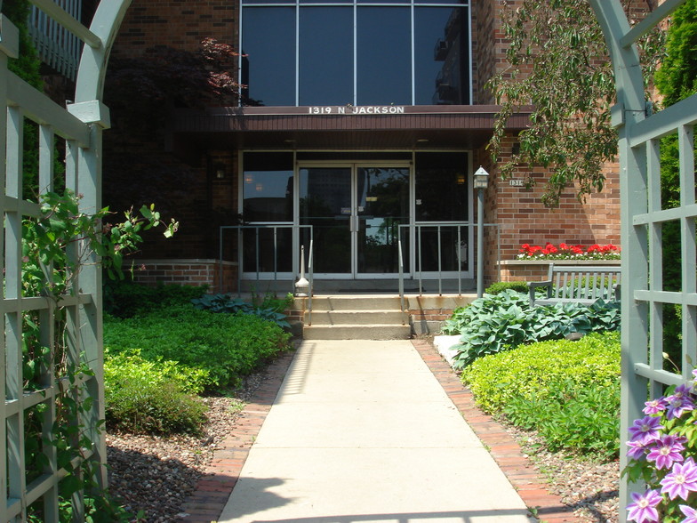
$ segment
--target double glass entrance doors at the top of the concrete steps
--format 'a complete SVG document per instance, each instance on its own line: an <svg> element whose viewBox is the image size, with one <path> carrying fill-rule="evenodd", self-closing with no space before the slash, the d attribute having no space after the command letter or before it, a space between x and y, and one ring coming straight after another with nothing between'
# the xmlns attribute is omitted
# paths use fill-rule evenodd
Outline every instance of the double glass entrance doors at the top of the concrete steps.
<svg viewBox="0 0 697 523"><path fill-rule="evenodd" d="M300 167L299 222L313 226L316 275L397 275L399 225L409 223L409 176L408 166ZM308 245L308 237L300 243ZM408 258L404 243L403 249Z"/></svg>

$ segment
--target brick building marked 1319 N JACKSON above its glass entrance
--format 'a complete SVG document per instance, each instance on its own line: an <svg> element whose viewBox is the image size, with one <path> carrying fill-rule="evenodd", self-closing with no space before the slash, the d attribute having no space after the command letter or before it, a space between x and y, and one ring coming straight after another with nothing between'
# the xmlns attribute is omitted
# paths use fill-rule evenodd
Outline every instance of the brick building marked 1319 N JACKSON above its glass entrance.
<svg viewBox="0 0 697 523"><path fill-rule="evenodd" d="M602 193L581 204L569 187L556 209L541 204L544 183L519 184L543 171L497 175L485 149L497 107L484 85L506 67L499 9L495 0L133 0L114 60L157 46L195 53L212 37L244 53L234 65L246 85L242 104L172 108L142 133L114 109L105 204L153 201L180 221L171 240L150 238L138 277L290 288L311 246L317 291L397 290L401 247L407 287L471 286L480 165L491 174L487 284L546 273L514 261L524 243L619 244L616 166ZM524 113L511 118L509 154L526 123Z"/></svg>

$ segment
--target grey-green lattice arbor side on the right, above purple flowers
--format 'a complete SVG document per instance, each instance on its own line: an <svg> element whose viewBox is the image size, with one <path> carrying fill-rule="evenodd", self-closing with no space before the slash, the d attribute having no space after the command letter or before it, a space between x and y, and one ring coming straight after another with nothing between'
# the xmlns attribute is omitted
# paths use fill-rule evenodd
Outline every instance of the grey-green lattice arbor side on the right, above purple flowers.
<svg viewBox="0 0 697 523"><path fill-rule="evenodd" d="M667 385L692 378L697 365L697 250L695 249L694 141L697 95L658 113L649 114L636 43L685 0L666 0L645 20L629 26L618 0L590 0L605 33L613 59L617 104L613 124L620 136L622 245L622 392L621 441L633 420L642 417L647 398L661 396ZM680 205L661 208L660 141L676 134L679 142ZM680 292L663 286L662 228L668 221L680 227ZM680 373L664 370L663 309L682 310ZM675 350L674 350L675 351ZM621 452L621 468L627 463ZM639 486L621 483L620 519L626 519L629 492Z"/></svg>

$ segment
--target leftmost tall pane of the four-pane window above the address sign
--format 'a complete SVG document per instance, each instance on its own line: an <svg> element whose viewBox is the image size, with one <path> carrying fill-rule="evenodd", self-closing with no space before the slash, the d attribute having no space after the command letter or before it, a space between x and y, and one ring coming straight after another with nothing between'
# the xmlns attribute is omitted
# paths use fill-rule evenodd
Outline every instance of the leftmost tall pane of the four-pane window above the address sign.
<svg viewBox="0 0 697 523"><path fill-rule="evenodd" d="M295 105L295 8L247 7L242 84L252 105Z"/></svg>

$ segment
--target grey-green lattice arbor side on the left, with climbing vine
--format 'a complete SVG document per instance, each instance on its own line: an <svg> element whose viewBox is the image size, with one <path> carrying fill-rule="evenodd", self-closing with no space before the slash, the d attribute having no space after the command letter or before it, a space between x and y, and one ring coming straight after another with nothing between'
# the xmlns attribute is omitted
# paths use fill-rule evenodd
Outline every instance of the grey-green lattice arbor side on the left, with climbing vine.
<svg viewBox="0 0 697 523"><path fill-rule="evenodd" d="M27 147L24 130L28 122L36 126L38 134L38 187L40 192L53 189L53 165L57 150L65 151L65 186L82 194L81 207L94 213L100 209L100 156L101 133L108 127L108 110L101 104L101 92L106 59L116 30L130 1L106 0L100 3L92 28L63 11L52 0L30 0L47 16L84 42L84 51L77 73L75 103L68 109L36 91L7 68L8 60L19 53L19 32L10 20L0 17L0 182L4 197L0 211L4 217L4 236L0 236L0 252L4 253L4 296L1 301L4 314L4 336L0 337L0 352L6 363L0 373L5 390L5 401L0 406L0 444L6 453L0 453L0 520L24 521L28 507L39 506L46 523L58 521L58 488L66 477L57 461L57 452L46 443L52 439L52 425L56 419L56 402L60 395L78 402L92 398L92 406L82 414L79 423L91 435L92 448L84 448L81 459L106 460L103 438L96 430L98 420L104 418L103 354L101 345L101 277L96 258L75 280L71 292L58 301L44 296L28 296L22 291L22 221L39 215L36 201L23 199L22 159ZM2 3L0 3L2 4ZM76 256L76 253L68 253ZM65 338L69 340L65 357L66 366L86 363L93 375L80 374L76 383L69 383L64 375L56 375L53 358L44 365L38 387L27 390L22 377L22 341L28 325L23 317L38 320L38 339L51 350L55 346L56 313L63 310L67 318ZM88 402L89 403L89 402ZM37 441L45 455L42 471L28 476L25 419L29 411L41 406L42 441ZM36 435L33 436L36 438ZM79 453L78 453L79 454ZM101 468L97 474L100 485L106 482ZM74 519L83 520L83 497L73 498Z"/></svg>

